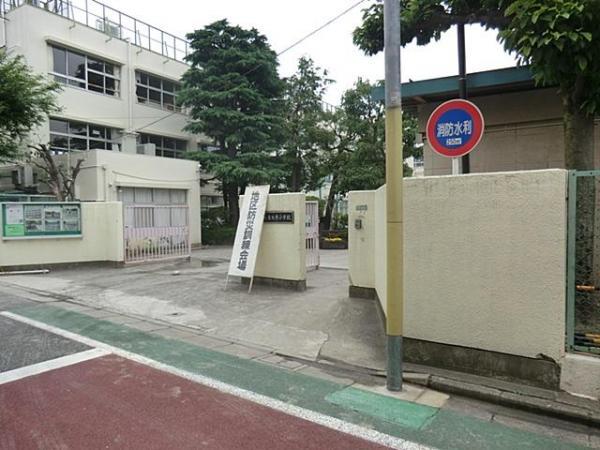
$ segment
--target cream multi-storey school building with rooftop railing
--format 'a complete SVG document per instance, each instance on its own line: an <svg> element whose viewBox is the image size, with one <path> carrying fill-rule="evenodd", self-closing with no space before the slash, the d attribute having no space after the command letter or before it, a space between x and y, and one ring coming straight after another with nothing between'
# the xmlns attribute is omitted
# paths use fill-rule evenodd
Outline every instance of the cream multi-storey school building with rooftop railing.
<svg viewBox="0 0 600 450"><path fill-rule="evenodd" d="M32 141L85 158L76 196L187 204L191 241L199 243L199 168L180 159L198 139L183 131L187 117L175 100L187 42L94 0L0 5L0 47L63 85L61 111ZM14 169L0 175L0 190L35 187L34 176Z"/></svg>

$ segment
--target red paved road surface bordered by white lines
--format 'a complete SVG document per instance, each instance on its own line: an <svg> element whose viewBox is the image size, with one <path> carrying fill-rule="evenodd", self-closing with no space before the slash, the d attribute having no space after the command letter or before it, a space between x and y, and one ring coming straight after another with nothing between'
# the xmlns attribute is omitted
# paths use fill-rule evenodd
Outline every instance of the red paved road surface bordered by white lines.
<svg viewBox="0 0 600 450"><path fill-rule="evenodd" d="M110 355L0 385L0 449L371 449Z"/></svg>

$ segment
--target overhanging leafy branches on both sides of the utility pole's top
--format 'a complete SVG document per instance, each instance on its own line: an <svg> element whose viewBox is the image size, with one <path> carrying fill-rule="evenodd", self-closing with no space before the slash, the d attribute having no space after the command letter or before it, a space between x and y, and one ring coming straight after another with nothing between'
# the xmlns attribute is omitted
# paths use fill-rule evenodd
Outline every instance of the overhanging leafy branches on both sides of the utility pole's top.
<svg viewBox="0 0 600 450"><path fill-rule="evenodd" d="M503 28L509 20L504 11L513 0L400 0L402 45L416 39L418 45L438 40L457 23ZM354 43L368 55L383 50L383 5L363 11L363 22L354 30Z"/></svg>

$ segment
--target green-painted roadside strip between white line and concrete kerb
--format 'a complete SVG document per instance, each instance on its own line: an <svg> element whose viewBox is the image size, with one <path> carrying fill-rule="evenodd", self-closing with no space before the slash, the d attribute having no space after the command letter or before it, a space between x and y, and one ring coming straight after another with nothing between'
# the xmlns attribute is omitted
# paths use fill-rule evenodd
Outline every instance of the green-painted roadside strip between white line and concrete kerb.
<svg viewBox="0 0 600 450"><path fill-rule="evenodd" d="M149 358L157 364L188 373L189 377L198 375L204 377L202 379L226 383L261 398L271 398L429 447L574 449L593 448L600 443L592 430L575 432L574 427L570 430L561 429L558 428L558 422L552 424L551 431L545 430L542 425L533 431L525 430L522 425L525 422L511 417L507 409L496 410L489 420L477 417L483 415L482 410L466 400L448 398L436 391L410 385L402 398L396 398L387 395L382 383L374 383L372 378L362 378L357 382L344 378L341 372L335 370L305 364L294 367L291 364L294 361L270 359L263 349L254 349L253 355L232 356L224 350L235 344L208 349L199 345L200 341L201 344L206 343L204 337L196 341L198 336L193 333L173 327L157 328L150 333L140 332L130 326L139 325L138 322L122 325L110 321L111 316L108 315L99 319L92 315L108 312L71 303L18 307L12 313L16 314L15 317L22 317L22 320L77 333L87 339L124 349L127 354ZM112 320L123 322L127 318L119 320L112 316ZM144 323L150 324L145 327L159 325L147 321ZM173 338L173 335L177 338ZM209 345L212 344L216 343L209 342ZM364 384L369 382L371 384ZM469 408L471 414L468 413Z"/></svg>

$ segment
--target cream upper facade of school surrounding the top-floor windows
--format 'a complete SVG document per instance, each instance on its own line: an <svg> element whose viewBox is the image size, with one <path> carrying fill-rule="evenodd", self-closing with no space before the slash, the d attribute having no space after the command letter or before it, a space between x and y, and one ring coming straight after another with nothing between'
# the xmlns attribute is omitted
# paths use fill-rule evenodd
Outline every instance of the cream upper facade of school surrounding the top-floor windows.
<svg viewBox="0 0 600 450"><path fill-rule="evenodd" d="M123 40L111 39L105 33L41 8L24 5L8 12L7 19L9 51L23 55L27 63L39 73L48 74L52 70L49 43L97 56L121 66L120 97L63 85L58 98L62 111L56 114L57 117L184 139L188 141L188 148L195 150L197 137L182 131L187 123L187 116L140 104L135 95L136 69L178 81L188 68L186 64ZM164 119L158 121L161 118ZM157 122L146 126L154 121ZM48 142L47 123L39 128L34 139ZM135 147L128 149L131 150L135 152Z"/></svg>

